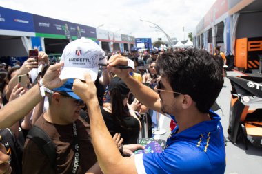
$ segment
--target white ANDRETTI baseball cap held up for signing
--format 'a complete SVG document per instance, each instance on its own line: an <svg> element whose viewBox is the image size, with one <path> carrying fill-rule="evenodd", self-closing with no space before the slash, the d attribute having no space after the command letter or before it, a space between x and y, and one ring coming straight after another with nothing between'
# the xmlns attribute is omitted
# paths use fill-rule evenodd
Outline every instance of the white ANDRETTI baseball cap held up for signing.
<svg viewBox="0 0 262 174"><path fill-rule="evenodd" d="M105 52L91 39L77 39L63 50L60 62L64 65L61 67L59 78L78 78L85 80L84 74L88 72L93 81L97 79L99 63L106 64Z"/></svg>

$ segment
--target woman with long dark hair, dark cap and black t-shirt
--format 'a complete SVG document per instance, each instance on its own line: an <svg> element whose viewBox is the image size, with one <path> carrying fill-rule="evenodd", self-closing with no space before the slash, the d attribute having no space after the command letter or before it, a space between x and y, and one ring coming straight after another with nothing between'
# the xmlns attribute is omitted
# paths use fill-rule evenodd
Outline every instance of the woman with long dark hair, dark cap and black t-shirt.
<svg viewBox="0 0 262 174"><path fill-rule="evenodd" d="M130 89L123 80L114 77L109 85L110 106L101 107L101 113L111 135L121 133L123 144L137 144L141 122L137 118L134 110L137 109L139 102L134 100L128 104Z"/></svg>

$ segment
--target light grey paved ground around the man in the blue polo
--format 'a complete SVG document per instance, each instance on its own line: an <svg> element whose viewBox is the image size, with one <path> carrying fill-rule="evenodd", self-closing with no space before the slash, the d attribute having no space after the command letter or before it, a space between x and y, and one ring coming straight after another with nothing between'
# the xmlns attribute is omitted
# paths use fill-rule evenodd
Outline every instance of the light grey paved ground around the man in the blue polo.
<svg viewBox="0 0 262 174"><path fill-rule="evenodd" d="M257 71L252 72L255 76L261 76L257 74ZM252 74L248 74L252 76ZM228 76L242 76L241 72L228 72ZM225 138L228 140L228 122L229 122L229 111L230 111L230 98L231 98L231 84L228 78L225 78L225 83L219 97L216 102L221 107L216 113L221 116L221 124L223 125L223 131ZM160 118L160 127L167 130L167 133L163 135L155 135L155 138L161 138L166 140L168 138L170 119L161 116ZM261 141L262 143L262 141ZM243 143L239 142L238 144L233 144L228 141L225 146L226 151L226 160L227 167L225 173L234 173L234 174L261 174L262 173L262 148L252 146L248 144L248 150L245 151Z"/></svg>

